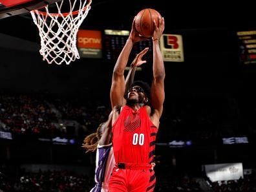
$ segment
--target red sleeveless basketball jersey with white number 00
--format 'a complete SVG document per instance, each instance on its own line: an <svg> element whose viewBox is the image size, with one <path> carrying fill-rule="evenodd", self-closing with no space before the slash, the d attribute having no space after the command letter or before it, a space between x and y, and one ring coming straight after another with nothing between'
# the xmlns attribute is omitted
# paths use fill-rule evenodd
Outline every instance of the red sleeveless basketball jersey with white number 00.
<svg viewBox="0 0 256 192"><path fill-rule="evenodd" d="M151 163L158 129L151 122L146 107L134 112L125 105L112 126L116 163Z"/></svg>

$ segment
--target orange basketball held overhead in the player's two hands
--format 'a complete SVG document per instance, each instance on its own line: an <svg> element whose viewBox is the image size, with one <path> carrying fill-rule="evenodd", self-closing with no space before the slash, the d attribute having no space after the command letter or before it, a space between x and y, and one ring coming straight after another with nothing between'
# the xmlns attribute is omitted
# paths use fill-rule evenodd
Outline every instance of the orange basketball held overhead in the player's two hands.
<svg viewBox="0 0 256 192"><path fill-rule="evenodd" d="M152 8L145 8L138 12L135 19L135 28L138 33L144 37L152 37L154 32L153 21L155 19L158 26L158 17L162 16Z"/></svg>

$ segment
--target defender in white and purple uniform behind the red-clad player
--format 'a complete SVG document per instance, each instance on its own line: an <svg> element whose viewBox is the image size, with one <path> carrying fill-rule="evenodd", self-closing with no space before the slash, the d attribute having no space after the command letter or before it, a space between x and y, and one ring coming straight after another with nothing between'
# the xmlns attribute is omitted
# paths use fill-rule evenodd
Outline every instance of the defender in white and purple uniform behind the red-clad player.
<svg viewBox="0 0 256 192"><path fill-rule="evenodd" d="M131 86L131 83L133 83L136 67L146 62L142 60L142 57L148 50L149 48L142 50L142 52L136 55L133 62L131 63L129 72L125 79L125 89L128 89L129 86ZM113 111L115 111L115 109L113 109ZM89 136L86 136L85 140L83 141L82 147L85 148L87 152L94 152L97 149L95 170L96 185L91 189L91 192L109 191L109 177L115 164L111 143L112 114L113 112L109 114L109 119L107 122L100 124L96 133L92 133Z"/></svg>

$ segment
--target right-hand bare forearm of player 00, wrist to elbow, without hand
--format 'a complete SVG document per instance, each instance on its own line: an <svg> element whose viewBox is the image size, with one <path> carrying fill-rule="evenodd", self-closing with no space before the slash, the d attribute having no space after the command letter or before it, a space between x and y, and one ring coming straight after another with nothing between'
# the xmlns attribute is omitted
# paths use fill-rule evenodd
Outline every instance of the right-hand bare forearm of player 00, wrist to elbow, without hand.
<svg viewBox="0 0 256 192"><path fill-rule="evenodd" d="M164 61L160 51L159 40L153 41L153 76L156 80L165 78Z"/></svg>

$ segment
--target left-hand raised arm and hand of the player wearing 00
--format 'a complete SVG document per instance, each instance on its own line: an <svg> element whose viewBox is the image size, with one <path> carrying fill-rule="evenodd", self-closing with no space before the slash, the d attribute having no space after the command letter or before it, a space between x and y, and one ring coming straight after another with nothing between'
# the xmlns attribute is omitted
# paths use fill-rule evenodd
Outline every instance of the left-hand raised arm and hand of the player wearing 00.
<svg viewBox="0 0 256 192"><path fill-rule="evenodd" d="M124 70L129 59L129 55L133 48L134 43L138 41L143 41L147 38L141 37L138 35L138 32L135 29L135 17L133 19L133 26L131 33L120 53L116 65L114 66L114 71L112 74L112 84L111 84L111 106L112 109L115 106L121 107L123 105L123 96L125 93L125 79L124 79Z"/></svg>

